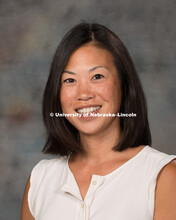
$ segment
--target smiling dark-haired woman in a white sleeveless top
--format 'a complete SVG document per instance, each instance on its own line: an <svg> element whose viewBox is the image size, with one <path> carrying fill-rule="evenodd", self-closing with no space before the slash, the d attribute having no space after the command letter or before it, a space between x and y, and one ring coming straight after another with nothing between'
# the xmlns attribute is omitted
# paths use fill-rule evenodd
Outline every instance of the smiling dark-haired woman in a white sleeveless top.
<svg viewBox="0 0 176 220"><path fill-rule="evenodd" d="M113 32L81 23L66 34L51 65L43 118L43 151L61 157L34 167L22 220L176 219L176 156L148 146L141 83Z"/></svg>

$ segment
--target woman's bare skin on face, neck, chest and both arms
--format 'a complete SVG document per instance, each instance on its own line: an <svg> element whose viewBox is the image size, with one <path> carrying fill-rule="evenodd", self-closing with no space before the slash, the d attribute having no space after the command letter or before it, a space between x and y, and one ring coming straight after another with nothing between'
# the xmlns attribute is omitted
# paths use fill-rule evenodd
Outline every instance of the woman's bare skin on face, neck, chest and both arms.
<svg viewBox="0 0 176 220"><path fill-rule="evenodd" d="M118 71L113 57L93 44L76 50L70 57L61 80L61 105L64 113L75 114L83 106L101 105L99 113L117 113L121 103ZM92 174L106 175L134 157L144 146L114 152L112 147L121 135L118 117L69 117L80 133L83 152L72 155L69 167L74 174L82 199ZM79 169L81 167L81 169ZM166 165L158 175L154 220L176 219L176 162ZM21 220L34 220L26 185Z"/></svg>

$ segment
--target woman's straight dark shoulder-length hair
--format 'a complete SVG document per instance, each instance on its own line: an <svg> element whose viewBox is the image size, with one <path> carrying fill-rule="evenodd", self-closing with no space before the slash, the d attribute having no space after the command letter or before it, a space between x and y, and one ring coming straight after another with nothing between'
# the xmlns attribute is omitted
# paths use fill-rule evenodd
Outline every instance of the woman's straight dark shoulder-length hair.
<svg viewBox="0 0 176 220"><path fill-rule="evenodd" d="M71 54L79 47L94 43L111 52L118 70L122 101L120 112L136 113L137 117L121 117L121 137L113 149L123 151L128 147L151 145L144 92L127 48L117 35L103 25L80 23L63 38L54 55L50 75L43 95L43 121L47 130L44 153L62 156L79 153L78 130L65 117L50 117L51 112L62 113L60 103L61 76Z"/></svg>

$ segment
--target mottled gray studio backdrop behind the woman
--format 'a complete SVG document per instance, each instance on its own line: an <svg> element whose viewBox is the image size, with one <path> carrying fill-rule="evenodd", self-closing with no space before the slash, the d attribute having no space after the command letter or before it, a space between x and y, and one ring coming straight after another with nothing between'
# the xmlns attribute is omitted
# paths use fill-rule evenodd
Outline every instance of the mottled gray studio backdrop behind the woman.
<svg viewBox="0 0 176 220"><path fill-rule="evenodd" d="M116 32L146 93L153 147L176 154L176 1L0 1L0 219L18 220L27 177L42 155L41 98L54 51L82 20Z"/></svg>

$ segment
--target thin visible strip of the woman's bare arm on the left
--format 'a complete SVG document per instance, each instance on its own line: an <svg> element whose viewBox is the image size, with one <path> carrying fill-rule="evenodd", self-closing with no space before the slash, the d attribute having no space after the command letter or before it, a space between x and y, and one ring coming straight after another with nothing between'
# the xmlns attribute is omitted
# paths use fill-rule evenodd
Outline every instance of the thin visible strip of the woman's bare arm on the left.
<svg viewBox="0 0 176 220"><path fill-rule="evenodd" d="M21 207L21 220L35 220L31 215L28 206L28 191L30 188L30 177L27 181L26 188L23 195L22 207Z"/></svg>

